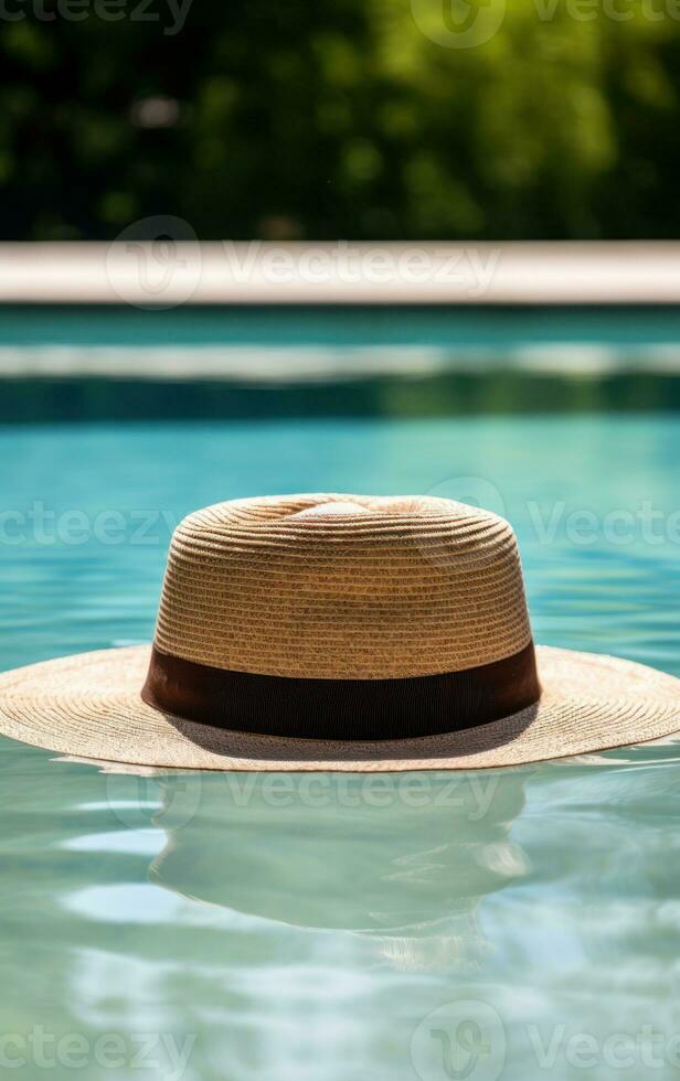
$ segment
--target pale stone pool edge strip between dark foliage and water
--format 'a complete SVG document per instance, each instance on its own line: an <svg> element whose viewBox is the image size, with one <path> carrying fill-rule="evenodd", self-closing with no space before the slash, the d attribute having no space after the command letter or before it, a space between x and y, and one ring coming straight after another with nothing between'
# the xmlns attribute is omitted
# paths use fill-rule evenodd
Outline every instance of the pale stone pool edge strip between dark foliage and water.
<svg viewBox="0 0 680 1081"><path fill-rule="evenodd" d="M0 304L120 303L680 304L680 243L0 244Z"/></svg>

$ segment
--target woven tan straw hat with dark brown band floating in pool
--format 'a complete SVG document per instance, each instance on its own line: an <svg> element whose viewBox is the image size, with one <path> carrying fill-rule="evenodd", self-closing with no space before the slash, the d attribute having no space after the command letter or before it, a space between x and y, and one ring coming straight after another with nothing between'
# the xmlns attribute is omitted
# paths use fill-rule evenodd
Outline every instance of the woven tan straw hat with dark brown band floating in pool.
<svg viewBox="0 0 680 1081"><path fill-rule="evenodd" d="M673 676L534 649L507 522L421 496L198 511L152 646L0 676L7 736L147 766L478 769L679 730Z"/></svg>

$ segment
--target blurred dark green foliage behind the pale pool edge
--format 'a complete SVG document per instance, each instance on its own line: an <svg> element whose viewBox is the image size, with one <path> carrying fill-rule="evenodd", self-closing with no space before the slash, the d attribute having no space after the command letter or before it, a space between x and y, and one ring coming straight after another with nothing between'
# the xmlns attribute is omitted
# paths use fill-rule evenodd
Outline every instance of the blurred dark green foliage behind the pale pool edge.
<svg viewBox="0 0 680 1081"><path fill-rule="evenodd" d="M673 0L64 2L3 0L6 239L678 236Z"/></svg>

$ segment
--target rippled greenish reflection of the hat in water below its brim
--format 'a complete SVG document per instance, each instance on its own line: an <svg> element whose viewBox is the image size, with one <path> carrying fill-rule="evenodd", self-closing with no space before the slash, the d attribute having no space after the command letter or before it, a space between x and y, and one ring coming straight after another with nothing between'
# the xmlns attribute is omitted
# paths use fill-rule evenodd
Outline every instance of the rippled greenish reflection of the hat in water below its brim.
<svg viewBox="0 0 680 1081"><path fill-rule="evenodd" d="M487 950L480 901L525 868L510 831L527 769L141 775L158 785L153 824L166 835L153 885L258 920L357 933L397 967L475 964Z"/></svg>

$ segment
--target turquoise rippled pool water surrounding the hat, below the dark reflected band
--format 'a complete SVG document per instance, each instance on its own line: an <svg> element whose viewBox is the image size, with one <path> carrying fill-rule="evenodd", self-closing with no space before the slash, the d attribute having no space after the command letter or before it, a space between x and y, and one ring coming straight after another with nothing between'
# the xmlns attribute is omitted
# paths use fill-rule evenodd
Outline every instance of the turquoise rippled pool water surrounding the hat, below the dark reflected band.
<svg viewBox="0 0 680 1081"><path fill-rule="evenodd" d="M680 675L674 414L25 424L0 454L2 668L148 640L185 512L326 490L501 511L539 641ZM362 779L3 740L0 769L8 1077L680 1072L672 743Z"/></svg>

